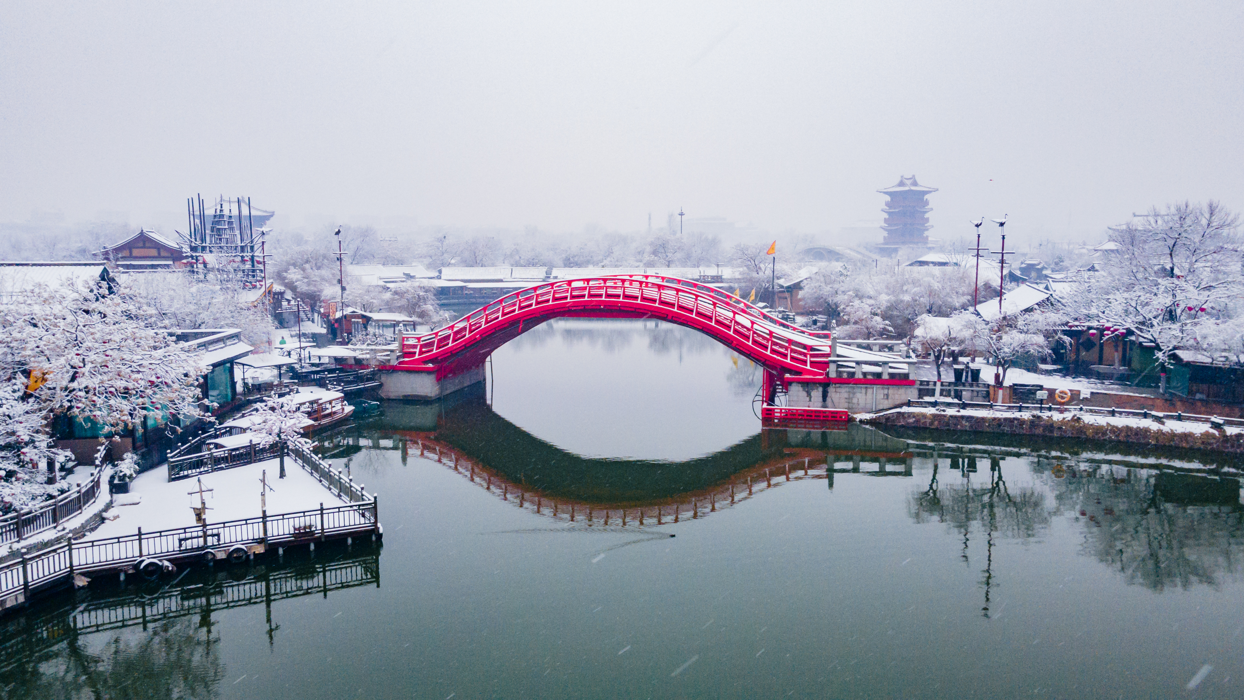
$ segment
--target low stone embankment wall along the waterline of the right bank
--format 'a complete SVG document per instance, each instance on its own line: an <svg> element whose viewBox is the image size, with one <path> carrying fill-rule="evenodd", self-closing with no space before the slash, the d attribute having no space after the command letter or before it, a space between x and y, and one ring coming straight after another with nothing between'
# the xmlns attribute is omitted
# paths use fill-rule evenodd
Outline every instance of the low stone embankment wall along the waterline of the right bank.
<svg viewBox="0 0 1244 700"><path fill-rule="evenodd" d="M1049 415L1028 417L970 415L949 412L893 412L863 420L872 425L902 425L933 430L970 430L977 433L1004 433L1008 435L1042 435L1049 438L1085 438L1116 443L1166 445L1244 454L1244 433L1225 435L1220 431L1178 433L1162 428L1140 425L1096 425L1072 417L1055 420Z"/></svg>

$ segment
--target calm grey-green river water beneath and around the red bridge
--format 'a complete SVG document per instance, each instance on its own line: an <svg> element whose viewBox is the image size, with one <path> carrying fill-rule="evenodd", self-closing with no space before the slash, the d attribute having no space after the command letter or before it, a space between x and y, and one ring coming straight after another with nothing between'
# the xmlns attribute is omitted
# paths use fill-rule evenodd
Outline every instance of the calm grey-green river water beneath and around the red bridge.
<svg viewBox="0 0 1244 700"><path fill-rule="evenodd" d="M758 368L652 321L489 378L321 436L382 545L44 599L0 695L1242 695L1240 485L1195 456L761 430Z"/></svg>

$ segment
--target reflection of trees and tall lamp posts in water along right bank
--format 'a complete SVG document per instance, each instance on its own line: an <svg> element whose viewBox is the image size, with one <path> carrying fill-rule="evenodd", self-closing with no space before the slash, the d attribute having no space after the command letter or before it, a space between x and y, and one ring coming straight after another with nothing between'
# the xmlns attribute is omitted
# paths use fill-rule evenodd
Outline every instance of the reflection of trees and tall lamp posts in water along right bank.
<svg viewBox="0 0 1244 700"><path fill-rule="evenodd" d="M1239 573L1244 507L1238 479L1159 470L1118 458L1033 455L1009 449L942 446L940 451L918 454L932 458L933 469L928 485L909 495L908 512L916 522L937 520L962 533L965 563L973 527L984 532L982 586L986 596L996 578L994 537L1039 536L1059 513L1082 525L1086 546L1081 551L1117 569L1128 583L1153 591L1187 589L1217 586L1224 576ZM1037 486L1008 487L1003 477L1008 456L1023 459L1036 475ZM985 460L990 465L988 485L972 479Z"/></svg>

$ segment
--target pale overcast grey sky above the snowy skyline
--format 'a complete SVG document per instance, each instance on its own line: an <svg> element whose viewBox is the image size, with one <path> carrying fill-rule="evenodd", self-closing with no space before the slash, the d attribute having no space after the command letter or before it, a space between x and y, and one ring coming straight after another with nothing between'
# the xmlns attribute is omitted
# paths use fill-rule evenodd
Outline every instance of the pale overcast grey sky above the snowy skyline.
<svg viewBox="0 0 1244 700"><path fill-rule="evenodd" d="M587 224L1244 209L1244 2L15 2L0 220L182 211Z"/></svg>

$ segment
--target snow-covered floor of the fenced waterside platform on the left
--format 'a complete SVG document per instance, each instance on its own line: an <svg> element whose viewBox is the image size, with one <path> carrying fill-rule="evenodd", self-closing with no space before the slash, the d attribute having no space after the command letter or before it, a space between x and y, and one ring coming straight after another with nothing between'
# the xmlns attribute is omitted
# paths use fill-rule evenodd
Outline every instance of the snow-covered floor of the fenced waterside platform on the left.
<svg viewBox="0 0 1244 700"><path fill-rule="evenodd" d="M264 470L267 470L267 482L272 487L267 491L269 515L312 510L320 507L321 502L325 506L345 502L292 459L285 460L285 479L277 479L280 466L272 459L203 475L200 479L209 509L208 522L259 517L260 474ZM87 535L87 540L133 535L138 527L144 532L153 532L193 526L194 512L190 506L199 505L198 487L195 479L169 481L167 466L142 474L131 484L128 495L114 496L114 506L108 516L119 517L104 521L98 530ZM208 489L211 491L207 491Z"/></svg>

